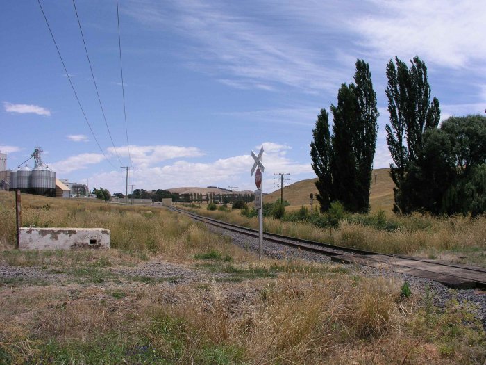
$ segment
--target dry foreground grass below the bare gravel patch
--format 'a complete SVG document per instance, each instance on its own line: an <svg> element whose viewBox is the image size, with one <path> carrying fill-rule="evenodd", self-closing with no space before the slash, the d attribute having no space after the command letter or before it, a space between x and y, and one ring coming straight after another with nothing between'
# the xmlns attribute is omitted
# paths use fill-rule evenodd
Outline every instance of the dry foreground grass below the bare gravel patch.
<svg viewBox="0 0 486 365"><path fill-rule="evenodd" d="M253 284L2 290L12 364L480 364L485 334L457 306L417 311L398 283L287 273ZM69 293L77 291L72 299ZM103 298L100 300L100 298ZM35 305L34 305L35 303ZM428 321L428 322L426 322ZM446 333L448 323L457 326ZM474 322L472 322L474 323ZM446 327L444 327L446 326ZM446 346L446 347L444 347ZM447 347L449 346L449 347ZM450 351L451 346L455 346ZM4 357L6 358L6 357Z"/></svg>

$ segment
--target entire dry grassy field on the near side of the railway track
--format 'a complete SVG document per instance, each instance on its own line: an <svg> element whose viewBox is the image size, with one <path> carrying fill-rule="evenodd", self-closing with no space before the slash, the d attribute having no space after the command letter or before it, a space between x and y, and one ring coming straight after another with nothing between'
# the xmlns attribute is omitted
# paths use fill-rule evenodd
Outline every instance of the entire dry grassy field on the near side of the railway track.
<svg viewBox="0 0 486 365"><path fill-rule="evenodd" d="M22 195L23 225L110 250L18 251L0 192L0 364L483 364L467 305L353 268L258 261L176 213ZM274 222L267 222L273 225Z"/></svg>

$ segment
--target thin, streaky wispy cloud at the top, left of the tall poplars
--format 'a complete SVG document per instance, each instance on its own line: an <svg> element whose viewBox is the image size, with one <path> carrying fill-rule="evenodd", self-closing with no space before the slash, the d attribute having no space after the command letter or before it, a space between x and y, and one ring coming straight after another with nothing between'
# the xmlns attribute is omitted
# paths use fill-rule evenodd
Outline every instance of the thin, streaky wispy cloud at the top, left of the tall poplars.
<svg viewBox="0 0 486 365"><path fill-rule="evenodd" d="M292 22L287 26L265 21L263 15L276 8L273 3L259 6L262 17L258 13L249 17L245 9L225 2L200 0L163 4L133 0L126 11L146 26L167 27L190 38L187 65L223 76L217 79L228 86L276 90L276 84L280 84L305 92L335 90L345 74L343 67L336 67L334 47L325 52L308 47L288 31L288 26L294 29L298 22L291 11L286 19ZM228 74L233 77L228 78Z"/></svg>

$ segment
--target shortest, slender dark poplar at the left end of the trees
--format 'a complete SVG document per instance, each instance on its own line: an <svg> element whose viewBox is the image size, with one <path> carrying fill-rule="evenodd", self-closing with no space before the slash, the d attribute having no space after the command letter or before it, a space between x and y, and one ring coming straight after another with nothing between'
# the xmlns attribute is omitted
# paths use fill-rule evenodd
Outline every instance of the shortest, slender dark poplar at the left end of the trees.
<svg viewBox="0 0 486 365"><path fill-rule="evenodd" d="M332 199L332 179L330 175L330 136L329 136L329 115L326 109L321 109L317 115L315 129L312 130L313 140L310 143L310 158L312 169L317 175L315 182L318 193L317 201L321 206L321 211L327 211Z"/></svg>

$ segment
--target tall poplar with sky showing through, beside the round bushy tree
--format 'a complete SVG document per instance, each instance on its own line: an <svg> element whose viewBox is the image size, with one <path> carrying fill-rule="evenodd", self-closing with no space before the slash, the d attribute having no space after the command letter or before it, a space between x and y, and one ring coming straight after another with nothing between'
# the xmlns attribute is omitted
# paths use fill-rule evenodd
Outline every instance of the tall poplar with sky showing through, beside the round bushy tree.
<svg viewBox="0 0 486 365"><path fill-rule="evenodd" d="M385 126L387 143L393 162L390 175L394 181L394 211L410 213L416 206L417 189L408 172L416 170L423 156L423 135L437 128L440 120L439 101L434 97L430 103L430 85L427 67L418 56L407 65L395 57L387 64L388 99L390 124Z"/></svg>

